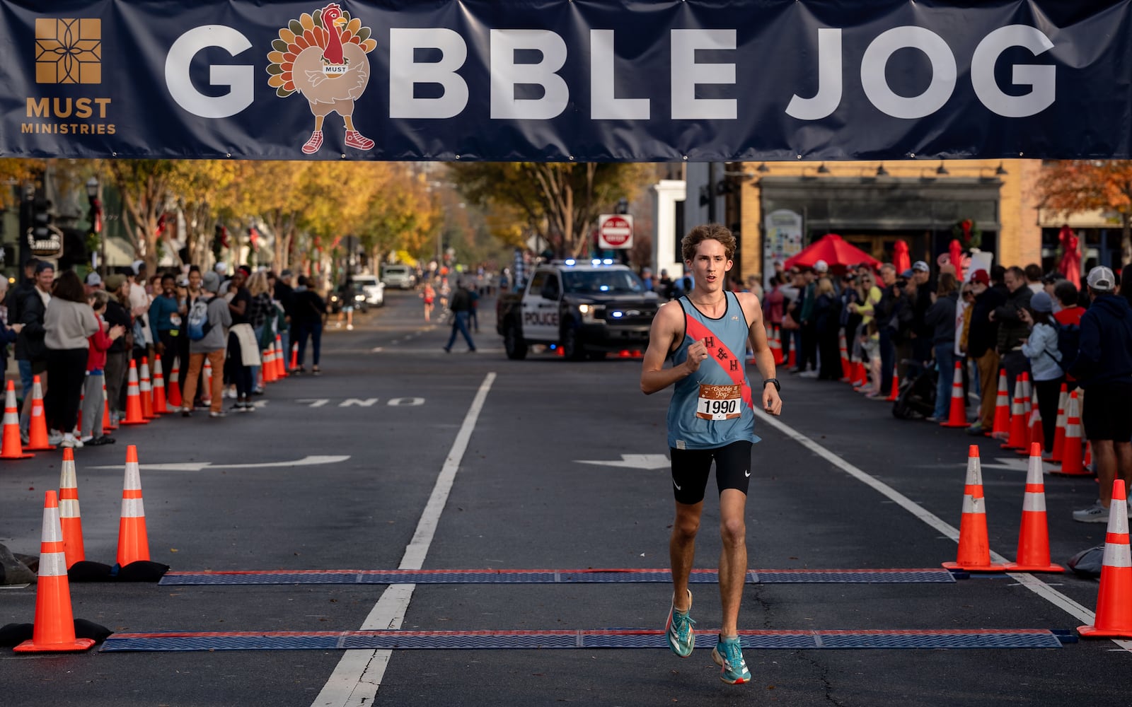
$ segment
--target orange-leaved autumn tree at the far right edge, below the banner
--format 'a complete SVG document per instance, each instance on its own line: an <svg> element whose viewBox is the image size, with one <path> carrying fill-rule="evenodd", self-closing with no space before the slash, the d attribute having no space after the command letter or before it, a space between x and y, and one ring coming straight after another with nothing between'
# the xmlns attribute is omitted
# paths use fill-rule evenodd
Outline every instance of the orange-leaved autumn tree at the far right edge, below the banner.
<svg viewBox="0 0 1132 707"><path fill-rule="evenodd" d="M1132 262L1132 161L1065 159L1048 163L1038 180L1039 206L1069 214L1114 213L1122 227L1123 261Z"/></svg>

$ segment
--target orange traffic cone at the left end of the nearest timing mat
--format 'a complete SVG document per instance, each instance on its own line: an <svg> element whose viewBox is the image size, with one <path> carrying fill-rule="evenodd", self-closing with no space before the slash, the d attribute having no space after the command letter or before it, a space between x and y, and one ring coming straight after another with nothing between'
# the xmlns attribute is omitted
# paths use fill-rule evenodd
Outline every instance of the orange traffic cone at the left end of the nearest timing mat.
<svg viewBox="0 0 1132 707"><path fill-rule="evenodd" d="M16 653L86 650L93 638L75 638L75 614L70 606L67 559L59 525L59 500L48 491L43 501L43 540L40 543L40 571L35 587L35 628L32 640L16 646Z"/></svg>

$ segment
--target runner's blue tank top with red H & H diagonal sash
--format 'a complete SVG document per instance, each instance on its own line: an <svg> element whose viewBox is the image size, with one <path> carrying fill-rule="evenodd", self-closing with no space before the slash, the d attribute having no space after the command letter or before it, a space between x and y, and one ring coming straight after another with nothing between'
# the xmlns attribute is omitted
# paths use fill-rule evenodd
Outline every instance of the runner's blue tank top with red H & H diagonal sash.
<svg viewBox="0 0 1132 707"><path fill-rule="evenodd" d="M727 311L706 317L686 296L684 340L672 352L672 365L688 357L688 346L704 339L709 356L692 376L678 380L668 404L668 446L674 449L711 449L731 442L757 442L752 390L744 356L747 318L734 292L724 292ZM762 391L760 391L762 399Z"/></svg>

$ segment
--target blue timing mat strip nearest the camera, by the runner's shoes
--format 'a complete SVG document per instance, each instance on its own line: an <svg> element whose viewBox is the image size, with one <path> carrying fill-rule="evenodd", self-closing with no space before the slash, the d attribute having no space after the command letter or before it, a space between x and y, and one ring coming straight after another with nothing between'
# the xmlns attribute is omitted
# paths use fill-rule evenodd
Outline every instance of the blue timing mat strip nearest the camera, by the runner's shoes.
<svg viewBox="0 0 1132 707"><path fill-rule="evenodd" d="M744 648L1060 648L1067 633L1048 629L944 629L891 631L739 631ZM714 646L714 631L696 636L696 647ZM102 652L668 648L652 629L583 631L265 631L114 633Z"/></svg>

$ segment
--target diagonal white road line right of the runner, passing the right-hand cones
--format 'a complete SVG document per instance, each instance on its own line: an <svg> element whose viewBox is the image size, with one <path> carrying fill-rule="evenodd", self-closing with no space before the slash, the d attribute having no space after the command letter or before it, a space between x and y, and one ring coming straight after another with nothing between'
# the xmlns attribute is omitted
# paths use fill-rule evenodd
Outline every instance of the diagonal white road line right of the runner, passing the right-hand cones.
<svg viewBox="0 0 1132 707"><path fill-rule="evenodd" d="M849 474L850 476L852 476L857 481L864 483L865 485L872 486L875 491L880 492L881 495L884 495L885 498L890 499L894 503L899 505L901 508L903 508L904 510L907 510L911 515L916 516L917 518L919 518L920 520L923 520L924 523L926 523L932 528L938 531L944 536L950 537L951 540L953 540L955 542L959 542L959 529L958 528L955 528L952 525L949 525L947 523L944 523L938 516L936 516L935 514L932 514L931 511L928 511L923 506L916 503L915 501L912 501L911 499L909 499L903 493L900 493L899 491L897 491L895 489L893 489L889 484L884 483L883 481L880 481L877 478L874 478L873 476L869 476L868 474L866 474L861 469L857 468L852 464L849 464L848 462L846 462L841 457L837 456L835 454L833 454L832 451L830 451L825 447L822 447L821 445L818 445L814 440L809 439L808 437L806 437L801 432L798 432L797 430L795 430L790 425L786 424L781 420L778 420L777 417L772 417L772 416L767 415L766 413L764 413L763 411L757 409L757 408L755 408L755 414L758 415L758 417L760 417L760 420L762 422L765 422L766 424L769 424L772 428L777 429L779 432L782 432L783 434L786 434L787 437L789 437L794 441L798 442L799 445L801 445L806 449L809 449L811 451L813 451L817 456L822 457L823 459L825 459L826 462L829 462L833 466L840 468L844 473ZM957 466L955 468L959 468L959 467ZM958 476L957 476L957 478L958 478ZM990 552L990 560L993 562L1010 562L1011 561L1011 560L1006 559L1005 557L1003 557L1003 555L1001 555L1001 554L998 554L997 552L994 552L994 551ZM1017 579L1018 584L1022 585L1023 587L1026 587L1030 592L1034 592L1035 594L1037 594L1041 598L1046 600L1047 602L1049 602L1054 606L1057 606L1058 609L1061 609L1062 611L1064 611L1069 615L1073 617L1074 619L1078 619L1083 624L1091 624L1092 621L1094 621L1094 619L1096 618L1096 614L1094 612L1091 612L1088 609L1086 609L1084 606L1078 604L1077 602L1074 602L1070 597L1065 596L1064 594L1062 594L1057 589L1054 589L1053 587L1050 587L1046 583L1041 581L1040 579L1038 579L1037 577L1035 577L1034 575L1021 574L1021 572L1007 572L1007 574L1011 577L1013 577L1014 579ZM1132 652L1132 640L1114 640L1113 643L1115 643L1116 645L1118 645L1121 648L1123 648L1125 650Z"/></svg>

